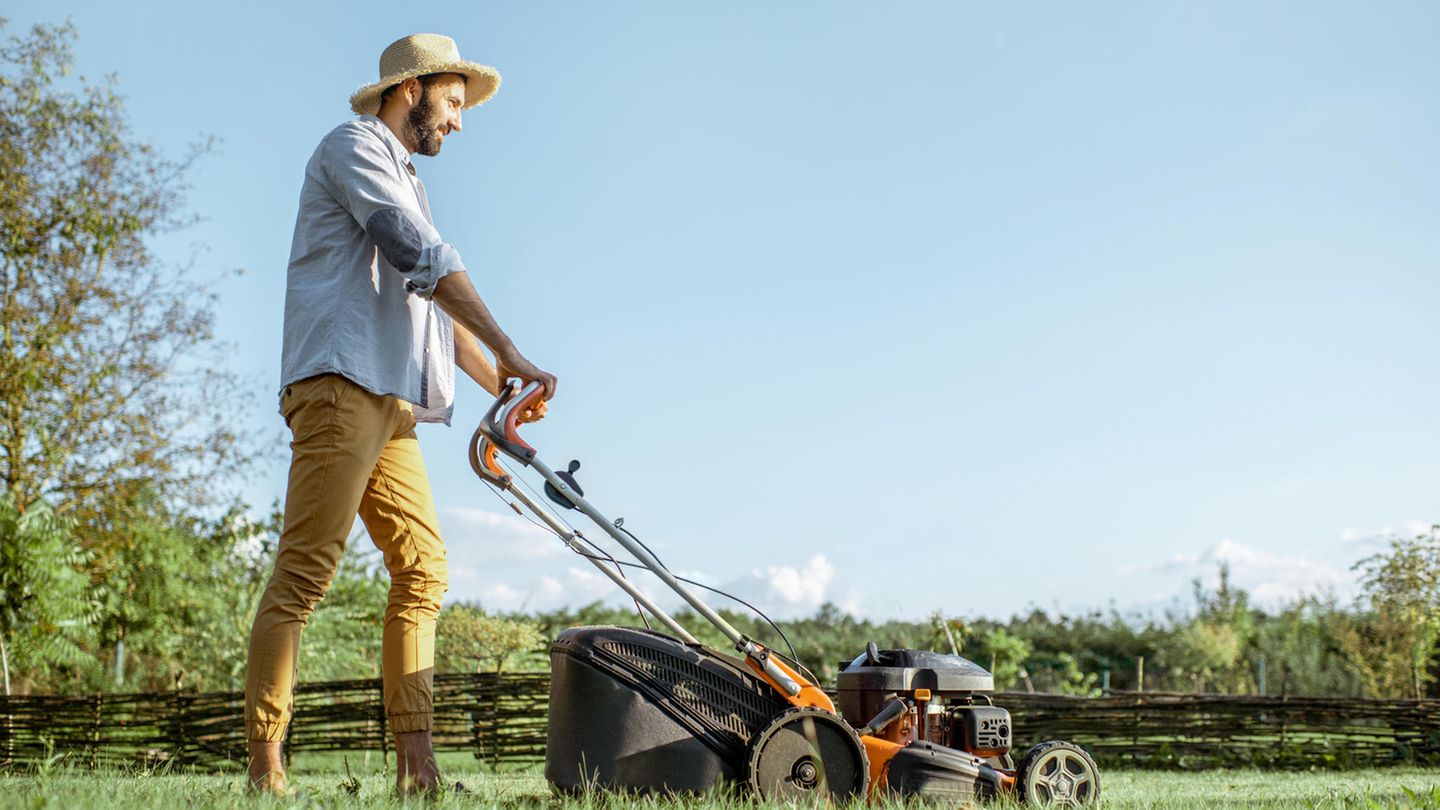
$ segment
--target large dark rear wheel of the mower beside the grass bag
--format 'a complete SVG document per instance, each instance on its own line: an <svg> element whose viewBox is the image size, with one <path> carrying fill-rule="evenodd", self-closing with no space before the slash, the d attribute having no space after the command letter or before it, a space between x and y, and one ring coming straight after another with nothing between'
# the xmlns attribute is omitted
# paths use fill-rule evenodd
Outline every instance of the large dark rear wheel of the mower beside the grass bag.
<svg viewBox="0 0 1440 810"><path fill-rule="evenodd" d="M765 800L863 798L865 745L850 724L821 709L786 709L750 739L749 781Z"/></svg>

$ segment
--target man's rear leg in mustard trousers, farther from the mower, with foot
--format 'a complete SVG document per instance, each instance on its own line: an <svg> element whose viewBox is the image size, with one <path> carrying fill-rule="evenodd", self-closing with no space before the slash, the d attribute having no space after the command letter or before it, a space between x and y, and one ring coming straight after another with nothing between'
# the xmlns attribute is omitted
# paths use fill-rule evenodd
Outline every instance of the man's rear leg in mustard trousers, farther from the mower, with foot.
<svg viewBox="0 0 1440 810"><path fill-rule="evenodd" d="M395 430L392 402L337 375L292 383L281 399L294 434L285 526L251 627L245 675L253 788L285 787L281 742L289 725L301 630L330 588L376 460Z"/></svg>

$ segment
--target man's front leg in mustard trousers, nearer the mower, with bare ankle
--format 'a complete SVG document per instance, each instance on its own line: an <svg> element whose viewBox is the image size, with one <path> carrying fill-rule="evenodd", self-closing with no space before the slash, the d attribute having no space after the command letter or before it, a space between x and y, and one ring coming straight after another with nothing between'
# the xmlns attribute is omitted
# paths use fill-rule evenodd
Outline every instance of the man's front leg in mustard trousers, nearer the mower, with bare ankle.
<svg viewBox="0 0 1440 810"><path fill-rule="evenodd" d="M431 744L435 620L449 584L431 481L409 411L380 453L360 502L360 519L390 572L384 611L384 706L395 729L396 785L439 784Z"/></svg>

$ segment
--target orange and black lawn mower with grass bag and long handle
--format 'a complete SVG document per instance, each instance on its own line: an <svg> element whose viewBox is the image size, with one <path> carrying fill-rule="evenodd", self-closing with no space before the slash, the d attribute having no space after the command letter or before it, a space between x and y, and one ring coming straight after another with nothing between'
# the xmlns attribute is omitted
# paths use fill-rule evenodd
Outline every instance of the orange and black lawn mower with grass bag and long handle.
<svg viewBox="0 0 1440 810"><path fill-rule="evenodd" d="M690 587L703 585L675 577L622 520L585 500L575 479L579 461L553 470L520 438L520 415L543 393L539 383L501 392L471 438L471 467L513 497L516 512L528 510L589 559L635 601L642 618L648 614L668 631L651 630L647 620L645 628L572 627L554 640L544 774L556 790L739 787L782 801L1099 800L1099 770L1077 745L1041 742L1012 761L1011 716L991 699L994 677L960 656L867 643L844 663L832 700L793 650L783 656L737 631ZM592 543L501 458L539 473L546 499L583 513L638 564ZM654 574L736 654L703 646L626 578L622 565Z"/></svg>

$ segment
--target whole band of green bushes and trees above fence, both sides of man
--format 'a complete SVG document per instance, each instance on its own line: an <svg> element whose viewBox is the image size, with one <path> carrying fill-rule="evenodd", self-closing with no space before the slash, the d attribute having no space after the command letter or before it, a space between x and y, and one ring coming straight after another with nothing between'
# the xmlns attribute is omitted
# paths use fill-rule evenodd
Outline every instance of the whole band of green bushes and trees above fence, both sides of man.
<svg viewBox="0 0 1440 810"><path fill-rule="evenodd" d="M20 513L0 497L0 617L12 693L230 690L242 686L251 615L271 565L278 516L204 522L138 499L101 538L43 502ZM357 538L351 549L369 543ZM876 623L834 605L779 630L721 611L742 631L788 651L827 685L865 641L960 654L989 667L998 689L1094 696L1109 690L1339 698L1436 698L1440 535L1392 538L1356 566L1352 604L1303 598L1260 610L1221 568L1195 582L1194 605L1164 618L1032 611L1005 621L933 615ZM374 677L389 581L372 553L346 555L305 630L307 682ZM707 644L708 624L685 617ZM634 610L592 604L534 614L456 604L441 614L438 672L549 666L547 644L577 624L639 624ZM786 641L788 640L788 641Z"/></svg>

